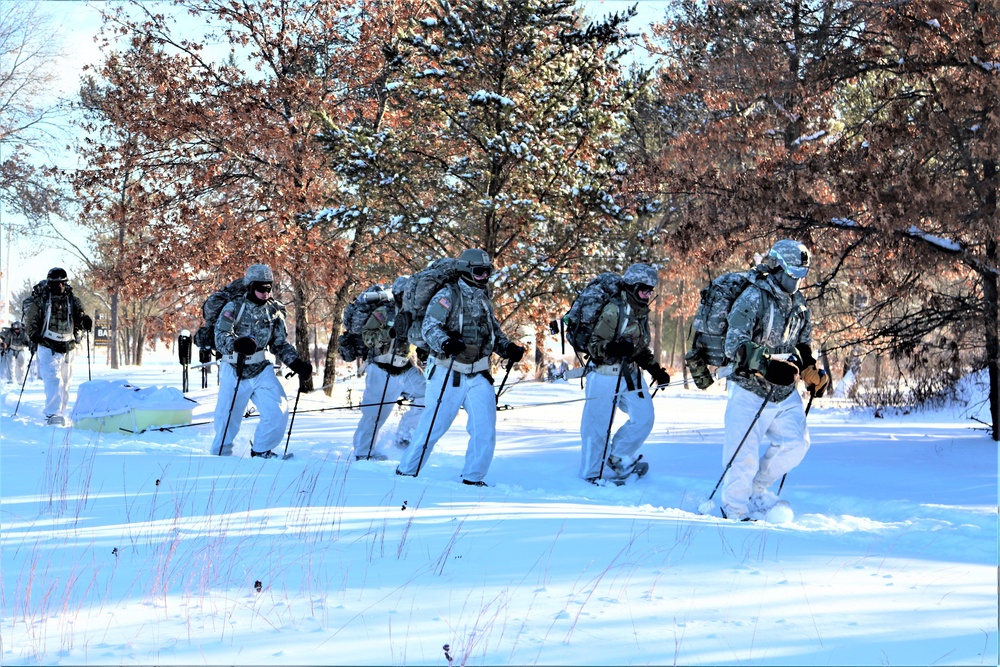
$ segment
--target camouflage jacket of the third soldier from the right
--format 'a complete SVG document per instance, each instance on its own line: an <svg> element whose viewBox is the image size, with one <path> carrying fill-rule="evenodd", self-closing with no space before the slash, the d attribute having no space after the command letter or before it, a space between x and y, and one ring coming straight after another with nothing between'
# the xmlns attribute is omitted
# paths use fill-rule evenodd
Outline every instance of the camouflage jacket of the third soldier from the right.
<svg viewBox="0 0 1000 667"><path fill-rule="evenodd" d="M420 329L424 341L437 355L444 355L441 346L449 333L465 341L465 351L455 357L459 363L470 364L503 349L510 340L500 330L500 321L485 290L457 280L438 290L427 306Z"/></svg>

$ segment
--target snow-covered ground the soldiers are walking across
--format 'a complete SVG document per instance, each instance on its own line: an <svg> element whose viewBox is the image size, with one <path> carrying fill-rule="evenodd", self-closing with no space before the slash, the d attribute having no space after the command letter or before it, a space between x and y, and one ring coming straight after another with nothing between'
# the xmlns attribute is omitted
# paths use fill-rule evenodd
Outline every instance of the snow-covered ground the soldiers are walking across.
<svg viewBox="0 0 1000 667"><path fill-rule="evenodd" d="M167 355L92 372L180 387ZM998 662L997 443L972 382L879 419L815 401L785 525L697 514L720 390L660 392L650 473L601 488L576 477L579 383L512 384L477 489L463 415L417 478L354 462L361 383L301 396L288 461L248 458L253 418L220 458L211 424L45 426L41 382L13 418L20 387L0 388L0 663ZM215 375L191 384L210 420Z"/></svg>

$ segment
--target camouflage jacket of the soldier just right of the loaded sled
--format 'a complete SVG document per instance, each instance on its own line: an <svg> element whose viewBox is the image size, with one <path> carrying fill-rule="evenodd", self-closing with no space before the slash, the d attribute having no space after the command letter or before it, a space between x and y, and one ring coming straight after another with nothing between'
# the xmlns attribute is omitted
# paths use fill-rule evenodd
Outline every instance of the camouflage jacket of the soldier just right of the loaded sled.
<svg viewBox="0 0 1000 667"><path fill-rule="evenodd" d="M215 349L223 355L232 354L233 343L243 336L251 336L258 350L269 349L286 365L299 358L295 346L288 342L285 306L280 301L268 299L257 305L243 296L223 306L215 323ZM247 364L240 377L256 377L269 366L267 360Z"/></svg>

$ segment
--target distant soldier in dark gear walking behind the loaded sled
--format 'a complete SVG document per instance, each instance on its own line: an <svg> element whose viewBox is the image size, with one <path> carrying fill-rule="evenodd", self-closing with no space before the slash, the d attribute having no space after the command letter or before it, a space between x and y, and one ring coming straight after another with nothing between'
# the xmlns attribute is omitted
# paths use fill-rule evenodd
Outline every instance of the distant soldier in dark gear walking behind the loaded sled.
<svg viewBox="0 0 1000 667"><path fill-rule="evenodd" d="M35 349L38 374L45 385L45 419L66 426L66 405L73 379L73 350L81 331L94 328L94 321L73 295L65 269L49 270L46 279L25 300L24 327Z"/></svg>

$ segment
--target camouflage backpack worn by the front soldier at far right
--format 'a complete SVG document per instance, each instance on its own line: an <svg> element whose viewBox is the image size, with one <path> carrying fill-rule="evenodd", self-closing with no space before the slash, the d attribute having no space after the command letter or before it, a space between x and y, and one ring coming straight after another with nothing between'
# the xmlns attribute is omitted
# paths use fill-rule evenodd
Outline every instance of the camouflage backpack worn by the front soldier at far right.
<svg viewBox="0 0 1000 667"><path fill-rule="evenodd" d="M707 389L713 379L708 366L726 366L726 332L729 329L729 311L743 291L761 275L758 268L749 271L724 273L701 290L698 310L691 321L691 349L684 361L699 389Z"/></svg>

